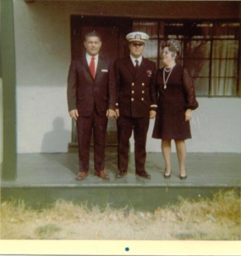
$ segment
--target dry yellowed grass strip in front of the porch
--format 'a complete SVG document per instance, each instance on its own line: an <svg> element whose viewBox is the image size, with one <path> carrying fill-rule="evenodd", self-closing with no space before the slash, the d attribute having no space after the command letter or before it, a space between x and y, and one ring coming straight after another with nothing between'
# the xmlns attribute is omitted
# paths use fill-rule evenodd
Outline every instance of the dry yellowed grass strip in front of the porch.
<svg viewBox="0 0 241 256"><path fill-rule="evenodd" d="M58 240L240 240L240 196L219 192L213 199L180 199L140 212L130 208L88 209L67 201L33 210L23 202L1 204L2 239Z"/></svg>

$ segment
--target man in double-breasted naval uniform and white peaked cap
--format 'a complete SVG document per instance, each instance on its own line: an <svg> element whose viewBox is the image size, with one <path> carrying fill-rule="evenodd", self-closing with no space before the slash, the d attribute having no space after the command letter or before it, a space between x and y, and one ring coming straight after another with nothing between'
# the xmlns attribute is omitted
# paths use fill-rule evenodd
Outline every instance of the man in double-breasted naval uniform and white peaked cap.
<svg viewBox="0 0 241 256"><path fill-rule="evenodd" d="M154 76L156 64L142 56L149 36L143 32L126 35L130 56L115 63L117 83L116 114L118 131L118 168L116 177L127 173L129 139L134 133L136 175L150 179L145 170L146 136L150 118L157 110Z"/></svg>

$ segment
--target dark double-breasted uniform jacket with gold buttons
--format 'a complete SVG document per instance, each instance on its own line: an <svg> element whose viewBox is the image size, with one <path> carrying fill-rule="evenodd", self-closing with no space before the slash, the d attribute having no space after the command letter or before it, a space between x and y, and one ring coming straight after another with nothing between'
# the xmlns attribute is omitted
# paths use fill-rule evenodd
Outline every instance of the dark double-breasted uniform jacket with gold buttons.
<svg viewBox="0 0 241 256"><path fill-rule="evenodd" d="M150 110L157 110L156 72L156 64L144 57L137 72L130 57L115 62L120 115L146 117Z"/></svg>

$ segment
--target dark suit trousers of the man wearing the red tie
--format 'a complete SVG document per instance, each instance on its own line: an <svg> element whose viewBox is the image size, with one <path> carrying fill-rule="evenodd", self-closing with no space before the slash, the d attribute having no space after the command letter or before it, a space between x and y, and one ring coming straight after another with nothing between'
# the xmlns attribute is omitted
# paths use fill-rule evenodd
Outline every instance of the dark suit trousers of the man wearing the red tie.
<svg viewBox="0 0 241 256"><path fill-rule="evenodd" d="M94 135L95 171L104 170L107 117L105 115L99 115L96 109L94 109L89 117L78 117L76 123L79 147L79 171L87 172L89 169L92 131Z"/></svg>

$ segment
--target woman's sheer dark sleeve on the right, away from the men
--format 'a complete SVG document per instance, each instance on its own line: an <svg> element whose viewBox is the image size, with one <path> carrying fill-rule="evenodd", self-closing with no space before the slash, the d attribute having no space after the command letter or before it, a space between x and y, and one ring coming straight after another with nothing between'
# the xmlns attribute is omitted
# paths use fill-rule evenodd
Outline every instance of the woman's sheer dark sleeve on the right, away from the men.
<svg viewBox="0 0 241 256"><path fill-rule="evenodd" d="M196 100L195 88L193 84L192 77L188 70L184 68L183 70L183 86L186 93L187 105L186 109L196 109L198 108L198 102Z"/></svg>

